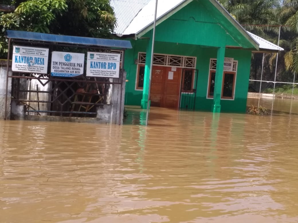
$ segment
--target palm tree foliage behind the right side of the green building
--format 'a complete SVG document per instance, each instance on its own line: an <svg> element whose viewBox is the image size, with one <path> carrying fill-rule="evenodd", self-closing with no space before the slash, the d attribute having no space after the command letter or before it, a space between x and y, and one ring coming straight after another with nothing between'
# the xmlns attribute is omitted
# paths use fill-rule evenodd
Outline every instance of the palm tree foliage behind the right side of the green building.
<svg viewBox="0 0 298 223"><path fill-rule="evenodd" d="M246 30L285 49L278 54L277 79L292 82L293 73L298 73L298 0L220 0L220 2ZM263 54L253 55L252 79L260 79L262 56ZM276 59L275 53L265 54L263 75L265 74L266 80L274 80Z"/></svg>

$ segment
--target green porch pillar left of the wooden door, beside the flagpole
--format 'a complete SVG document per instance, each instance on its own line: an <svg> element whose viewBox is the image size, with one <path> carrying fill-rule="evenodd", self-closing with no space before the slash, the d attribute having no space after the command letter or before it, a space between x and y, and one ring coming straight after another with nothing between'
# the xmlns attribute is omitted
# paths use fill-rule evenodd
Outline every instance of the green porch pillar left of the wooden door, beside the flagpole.
<svg viewBox="0 0 298 223"><path fill-rule="evenodd" d="M142 109L147 109L147 104L148 104L151 52L152 52L152 34L150 34L150 39L149 39L149 42L147 44L147 50L146 50L144 87L143 87L143 97L142 97L142 101L141 101L141 108Z"/></svg>

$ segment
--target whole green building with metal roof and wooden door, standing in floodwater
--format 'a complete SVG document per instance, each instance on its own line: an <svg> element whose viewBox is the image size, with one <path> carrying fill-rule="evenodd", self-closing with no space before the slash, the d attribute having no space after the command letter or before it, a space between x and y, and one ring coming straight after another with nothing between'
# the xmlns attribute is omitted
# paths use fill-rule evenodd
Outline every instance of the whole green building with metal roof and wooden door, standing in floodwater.
<svg viewBox="0 0 298 223"><path fill-rule="evenodd" d="M125 51L125 104L146 108L155 0L112 0ZM283 48L247 32L216 0L159 0L150 105L245 112L252 53Z"/></svg>

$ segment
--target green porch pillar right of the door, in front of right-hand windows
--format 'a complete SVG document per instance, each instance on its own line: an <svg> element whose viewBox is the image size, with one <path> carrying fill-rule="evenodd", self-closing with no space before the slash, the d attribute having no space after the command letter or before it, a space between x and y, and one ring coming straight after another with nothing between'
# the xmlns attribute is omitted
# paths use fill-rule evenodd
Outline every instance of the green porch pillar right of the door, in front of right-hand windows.
<svg viewBox="0 0 298 223"><path fill-rule="evenodd" d="M213 112L221 112L221 87L224 73L224 54L225 47L219 47L217 50L215 85L213 95Z"/></svg>

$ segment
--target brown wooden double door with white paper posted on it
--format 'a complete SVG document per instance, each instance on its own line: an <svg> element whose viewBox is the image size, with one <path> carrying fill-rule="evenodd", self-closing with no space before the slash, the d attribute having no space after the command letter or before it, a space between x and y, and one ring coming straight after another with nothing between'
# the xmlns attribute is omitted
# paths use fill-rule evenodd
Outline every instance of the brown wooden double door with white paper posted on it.
<svg viewBox="0 0 298 223"><path fill-rule="evenodd" d="M182 68L152 67L151 106L179 108Z"/></svg>

